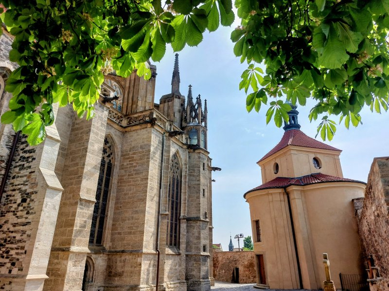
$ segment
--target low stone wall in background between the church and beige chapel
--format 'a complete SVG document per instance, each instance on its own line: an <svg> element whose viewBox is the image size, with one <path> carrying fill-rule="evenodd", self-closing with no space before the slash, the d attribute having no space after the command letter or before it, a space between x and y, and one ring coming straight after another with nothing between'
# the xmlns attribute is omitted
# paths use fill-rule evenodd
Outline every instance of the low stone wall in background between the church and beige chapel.
<svg viewBox="0 0 389 291"><path fill-rule="evenodd" d="M256 283L254 251L213 253L215 281L232 282L234 268L239 268L239 283Z"/></svg>

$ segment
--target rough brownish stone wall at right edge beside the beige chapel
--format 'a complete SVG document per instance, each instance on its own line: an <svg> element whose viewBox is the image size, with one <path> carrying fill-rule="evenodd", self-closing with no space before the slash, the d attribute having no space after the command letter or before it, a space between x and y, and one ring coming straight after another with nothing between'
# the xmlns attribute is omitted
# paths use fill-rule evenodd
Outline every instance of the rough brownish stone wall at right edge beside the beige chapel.
<svg viewBox="0 0 389 291"><path fill-rule="evenodd" d="M355 205L355 201L354 201ZM370 169L362 211L356 207L364 255L371 255L383 279L371 291L389 289L389 157L375 158ZM360 211L360 215L358 212Z"/></svg>

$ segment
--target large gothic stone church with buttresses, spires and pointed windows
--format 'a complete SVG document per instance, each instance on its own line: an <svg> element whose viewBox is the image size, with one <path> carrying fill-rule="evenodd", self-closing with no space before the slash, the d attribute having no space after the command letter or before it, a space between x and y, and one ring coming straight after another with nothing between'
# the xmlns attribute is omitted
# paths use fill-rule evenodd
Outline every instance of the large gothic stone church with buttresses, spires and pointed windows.
<svg viewBox="0 0 389 291"><path fill-rule="evenodd" d="M4 113L16 65L0 41ZM210 290L207 104L180 93L178 55L154 103L150 68L148 81L106 76L92 120L57 108L39 146L1 125L1 290Z"/></svg>

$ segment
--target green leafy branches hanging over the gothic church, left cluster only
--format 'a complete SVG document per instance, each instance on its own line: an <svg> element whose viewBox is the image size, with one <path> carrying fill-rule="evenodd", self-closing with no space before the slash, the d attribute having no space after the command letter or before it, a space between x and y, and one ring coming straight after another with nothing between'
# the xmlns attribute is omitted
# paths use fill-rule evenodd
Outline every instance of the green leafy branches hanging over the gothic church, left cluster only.
<svg viewBox="0 0 389 291"><path fill-rule="evenodd" d="M53 103L72 103L79 117L93 116L104 75L134 69L151 77L147 60L160 61L166 44L197 46L203 33L234 20L231 0L4 0L1 15L15 36L7 80L13 94L1 122L28 135L32 145L53 124Z"/></svg>

